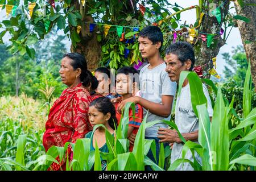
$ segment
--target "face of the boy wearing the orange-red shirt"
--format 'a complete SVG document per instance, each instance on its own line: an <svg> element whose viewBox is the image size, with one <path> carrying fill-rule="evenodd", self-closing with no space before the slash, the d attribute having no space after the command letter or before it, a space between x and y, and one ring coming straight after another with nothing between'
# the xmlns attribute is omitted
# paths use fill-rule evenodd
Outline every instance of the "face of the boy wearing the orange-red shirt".
<svg viewBox="0 0 256 182"><path fill-rule="evenodd" d="M133 82L131 81L131 78L129 77L129 75L119 73L117 75L115 91L118 94L123 95L127 93L132 93L132 90L133 90Z"/></svg>

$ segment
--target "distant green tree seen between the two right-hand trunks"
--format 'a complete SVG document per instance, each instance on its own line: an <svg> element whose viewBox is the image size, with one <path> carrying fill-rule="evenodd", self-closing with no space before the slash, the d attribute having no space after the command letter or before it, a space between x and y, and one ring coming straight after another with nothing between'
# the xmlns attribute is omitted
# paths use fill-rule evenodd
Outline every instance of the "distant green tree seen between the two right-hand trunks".
<svg viewBox="0 0 256 182"><path fill-rule="evenodd" d="M232 79L240 87L243 87L248 67L245 50L242 46L233 47L232 56L228 52L222 53L223 58L229 67L225 66L224 74L226 79ZM230 69L231 68L231 69Z"/></svg>

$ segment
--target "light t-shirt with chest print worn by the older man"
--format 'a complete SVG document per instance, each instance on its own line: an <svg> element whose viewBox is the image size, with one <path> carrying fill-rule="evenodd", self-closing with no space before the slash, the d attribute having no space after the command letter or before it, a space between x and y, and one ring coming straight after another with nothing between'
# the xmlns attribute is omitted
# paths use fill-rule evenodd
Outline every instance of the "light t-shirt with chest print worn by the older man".
<svg viewBox="0 0 256 182"><path fill-rule="evenodd" d="M205 97L207 98L207 110L209 113L209 117L213 116L212 102L210 101L210 96L207 90L207 87L203 84L203 92ZM199 130L199 119L196 117L195 112L193 111L192 103L191 103L191 94L189 84L181 88L180 95L177 97L176 107L175 107L175 123L180 133L191 133L193 131ZM197 142L198 143L198 142ZM181 159L182 155L183 143L174 143L172 147L171 153L171 164L177 160ZM193 162L193 156L191 151L189 150L185 155L186 159L189 159ZM197 152L195 152L195 158L197 162L201 164L201 158ZM182 168L182 164L176 168L177 171L192 171L193 168L189 163L184 163Z"/></svg>

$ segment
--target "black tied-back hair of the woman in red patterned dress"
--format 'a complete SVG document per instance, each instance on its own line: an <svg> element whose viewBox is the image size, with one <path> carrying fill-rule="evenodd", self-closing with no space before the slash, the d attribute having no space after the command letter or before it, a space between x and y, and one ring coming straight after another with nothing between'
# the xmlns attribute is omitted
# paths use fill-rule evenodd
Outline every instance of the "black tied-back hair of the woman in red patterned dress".
<svg viewBox="0 0 256 182"><path fill-rule="evenodd" d="M81 55L81 53L77 52L71 52L71 53L65 53L63 55L64 57L69 57L72 59L71 66L73 67L73 70L76 70L77 68L81 69L80 79L82 82L82 85L89 86L90 84L90 78L89 78L89 71L87 70L87 63L85 60L85 57Z"/></svg>

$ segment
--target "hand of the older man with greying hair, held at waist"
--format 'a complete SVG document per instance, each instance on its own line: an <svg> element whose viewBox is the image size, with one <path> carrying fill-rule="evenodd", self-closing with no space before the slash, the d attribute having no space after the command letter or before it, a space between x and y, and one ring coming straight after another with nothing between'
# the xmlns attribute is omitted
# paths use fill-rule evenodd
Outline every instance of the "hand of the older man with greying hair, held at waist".
<svg viewBox="0 0 256 182"><path fill-rule="evenodd" d="M160 139L159 142L167 142L167 143L182 142L176 130L170 130L166 128L158 129L158 138Z"/></svg>

